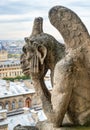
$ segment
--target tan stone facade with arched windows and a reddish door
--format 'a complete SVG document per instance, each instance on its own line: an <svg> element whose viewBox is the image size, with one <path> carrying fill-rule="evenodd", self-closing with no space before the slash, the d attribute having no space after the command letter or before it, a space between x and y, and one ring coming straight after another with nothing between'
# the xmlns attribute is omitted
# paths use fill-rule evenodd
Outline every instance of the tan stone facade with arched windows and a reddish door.
<svg viewBox="0 0 90 130"><path fill-rule="evenodd" d="M0 110L7 109L8 111L13 111L23 107L30 108L32 106L32 96L33 94L21 94L0 98Z"/></svg>

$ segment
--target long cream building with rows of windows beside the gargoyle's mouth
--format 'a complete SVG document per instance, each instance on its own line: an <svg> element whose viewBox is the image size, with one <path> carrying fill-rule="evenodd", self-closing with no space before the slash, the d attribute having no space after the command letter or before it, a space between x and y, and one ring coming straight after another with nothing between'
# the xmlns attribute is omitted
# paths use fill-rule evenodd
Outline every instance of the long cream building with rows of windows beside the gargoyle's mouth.
<svg viewBox="0 0 90 130"><path fill-rule="evenodd" d="M0 62L0 79L22 76L19 60L6 60Z"/></svg>

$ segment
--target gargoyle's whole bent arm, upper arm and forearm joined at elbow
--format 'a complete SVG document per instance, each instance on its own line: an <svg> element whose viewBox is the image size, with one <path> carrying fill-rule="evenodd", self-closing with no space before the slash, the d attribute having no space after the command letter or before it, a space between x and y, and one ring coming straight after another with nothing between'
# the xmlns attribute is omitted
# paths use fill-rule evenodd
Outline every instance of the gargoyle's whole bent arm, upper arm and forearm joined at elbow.
<svg viewBox="0 0 90 130"><path fill-rule="evenodd" d="M70 78L73 79L72 65L64 62L62 65L62 62L58 63L55 67L52 94L48 91L42 78L34 79L34 86L37 86L37 93L41 96L43 110L48 120L56 127L62 125L73 86L73 80L69 80Z"/></svg>

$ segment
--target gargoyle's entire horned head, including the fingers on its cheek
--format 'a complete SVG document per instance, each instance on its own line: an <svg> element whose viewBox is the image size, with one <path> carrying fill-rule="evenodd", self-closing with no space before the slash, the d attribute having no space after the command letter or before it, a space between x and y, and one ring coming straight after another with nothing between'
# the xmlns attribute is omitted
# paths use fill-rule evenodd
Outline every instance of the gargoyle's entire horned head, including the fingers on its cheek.
<svg viewBox="0 0 90 130"><path fill-rule="evenodd" d="M55 64L65 54L63 44L50 34L43 33L42 22L42 18L35 18L31 35L24 39L26 44L21 56L21 68L24 74L39 72L45 75L48 69L54 69ZM59 54L60 56L57 56Z"/></svg>

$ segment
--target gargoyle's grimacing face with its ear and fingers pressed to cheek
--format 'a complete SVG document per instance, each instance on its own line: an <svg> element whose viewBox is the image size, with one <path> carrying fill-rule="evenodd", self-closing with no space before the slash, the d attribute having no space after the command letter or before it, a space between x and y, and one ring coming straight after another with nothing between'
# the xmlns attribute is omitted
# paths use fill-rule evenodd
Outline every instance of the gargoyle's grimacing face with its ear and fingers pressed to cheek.
<svg viewBox="0 0 90 130"><path fill-rule="evenodd" d="M25 38L25 42L21 55L21 68L25 75L30 75L38 72L40 66L44 64L47 48L33 41L32 38Z"/></svg>

